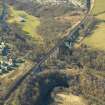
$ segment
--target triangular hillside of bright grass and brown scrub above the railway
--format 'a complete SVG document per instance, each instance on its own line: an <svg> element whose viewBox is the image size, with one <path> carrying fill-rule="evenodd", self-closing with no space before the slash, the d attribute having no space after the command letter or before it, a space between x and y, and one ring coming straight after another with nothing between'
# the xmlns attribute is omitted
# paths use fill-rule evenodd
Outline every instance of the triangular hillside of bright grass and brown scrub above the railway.
<svg viewBox="0 0 105 105"><path fill-rule="evenodd" d="M9 8L8 23L21 28L21 31L31 39L30 41L36 44L37 49L42 50L41 53L53 47L84 15L81 10L74 9L73 5L38 7L27 1L20 2ZM73 16L76 11L77 14Z"/></svg>

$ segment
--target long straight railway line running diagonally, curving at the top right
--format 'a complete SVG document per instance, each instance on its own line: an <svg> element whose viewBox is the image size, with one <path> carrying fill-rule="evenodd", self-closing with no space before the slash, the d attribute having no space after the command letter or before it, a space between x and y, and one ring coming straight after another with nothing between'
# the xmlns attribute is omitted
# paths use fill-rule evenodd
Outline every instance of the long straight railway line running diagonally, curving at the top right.
<svg viewBox="0 0 105 105"><path fill-rule="evenodd" d="M90 0L92 1L92 0ZM90 2L89 1L89 2ZM91 5L91 3L90 3ZM91 7L91 6L90 6ZM62 43L64 43L68 38L72 38L75 35L75 32L78 31L80 29L80 27L85 23L85 21L87 21L90 13L91 13L91 9L92 7L89 9L89 11L87 11L85 17L79 21L77 24L75 24L75 26L71 29L71 31L69 32L68 36L66 36L62 41L58 42L44 57L42 60L40 60L40 62L35 65L31 70L29 70L29 72L27 72L24 76L18 78L17 81L15 81L13 83L13 85L9 88L8 92L2 97L2 103L0 103L0 105L4 105L5 101L8 100L8 98L11 96L11 94L22 84L22 82L30 75L30 74L34 74L39 72L40 66L46 62L46 60L57 50L57 48L60 47L60 45L62 45Z"/></svg>

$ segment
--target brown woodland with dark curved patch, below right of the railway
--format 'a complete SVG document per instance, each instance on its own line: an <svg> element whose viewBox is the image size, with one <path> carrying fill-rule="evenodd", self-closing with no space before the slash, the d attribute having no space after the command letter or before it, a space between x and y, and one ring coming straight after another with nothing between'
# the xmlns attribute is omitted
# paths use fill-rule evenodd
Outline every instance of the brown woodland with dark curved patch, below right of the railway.
<svg viewBox="0 0 105 105"><path fill-rule="evenodd" d="M11 98L12 101L22 105L43 105L43 103L45 105L57 105L57 103L54 104L53 100L55 96L51 97L51 94L55 92L56 87L59 87L56 92L60 90L67 92L67 94L82 95L87 99L88 105L104 105L104 52L93 51L89 47L82 46L82 48L74 49L72 55L71 53L66 53L66 56L62 54L59 59L53 62L53 66L56 66L57 69L49 68L48 64L45 72L34 74L29 77L30 79L27 78L23 86L17 90L20 91L16 98L17 101L13 97ZM66 72L67 68L78 69L79 72L72 75L68 71Z"/></svg>

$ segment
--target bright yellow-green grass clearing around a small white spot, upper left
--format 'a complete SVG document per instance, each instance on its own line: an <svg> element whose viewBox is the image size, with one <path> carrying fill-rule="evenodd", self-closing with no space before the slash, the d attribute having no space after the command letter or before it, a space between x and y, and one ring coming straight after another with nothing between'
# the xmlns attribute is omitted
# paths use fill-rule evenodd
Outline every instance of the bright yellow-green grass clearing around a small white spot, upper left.
<svg viewBox="0 0 105 105"><path fill-rule="evenodd" d="M10 7L11 15L9 16L8 22L13 24L16 23L18 26L22 27L22 30L26 32L26 35L29 35L37 42L37 44L42 44L43 39L40 35L37 34L37 28L40 25L38 18L27 14L25 11L15 10Z"/></svg>

